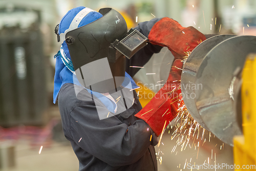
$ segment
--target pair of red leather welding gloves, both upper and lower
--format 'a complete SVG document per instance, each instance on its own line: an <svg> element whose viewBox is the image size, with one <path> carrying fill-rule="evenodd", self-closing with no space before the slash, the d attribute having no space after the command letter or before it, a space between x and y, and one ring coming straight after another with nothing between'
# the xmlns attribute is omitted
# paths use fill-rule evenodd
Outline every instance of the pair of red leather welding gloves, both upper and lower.
<svg viewBox="0 0 256 171"><path fill-rule="evenodd" d="M162 18L153 26L148 39L161 46L167 46L175 56L175 61L170 69L165 85L155 94L153 99L135 116L146 121L157 136L172 121L180 106L183 106L180 80L183 63L180 59L191 52L206 38L193 27L183 28L170 18Z"/></svg>

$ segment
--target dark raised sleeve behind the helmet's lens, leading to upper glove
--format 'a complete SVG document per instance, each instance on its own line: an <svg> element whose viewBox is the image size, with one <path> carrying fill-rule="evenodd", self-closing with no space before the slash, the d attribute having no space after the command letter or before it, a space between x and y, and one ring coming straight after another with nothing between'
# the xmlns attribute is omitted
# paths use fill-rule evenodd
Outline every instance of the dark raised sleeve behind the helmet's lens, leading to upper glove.
<svg viewBox="0 0 256 171"><path fill-rule="evenodd" d="M162 18L154 18L150 21L140 22L134 29L138 30L144 36L148 37L152 27L157 21ZM140 68L131 68L130 66L143 66L152 57L154 53L159 53L161 51L161 46L154 45L148 42L148 44L139 50L131 59L126 60L126 72L133 77Z"/></svg>

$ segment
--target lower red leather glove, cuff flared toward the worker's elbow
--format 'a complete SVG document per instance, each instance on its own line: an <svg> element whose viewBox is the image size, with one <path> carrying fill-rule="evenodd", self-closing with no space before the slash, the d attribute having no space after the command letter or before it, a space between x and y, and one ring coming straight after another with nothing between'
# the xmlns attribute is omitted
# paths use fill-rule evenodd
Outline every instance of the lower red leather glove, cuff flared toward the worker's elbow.
<svg viewBox="0 0 256 171"><path fill-rule="evenodd" d="M174 61L165 85L155 94L153 99L135 116L143 119L157 136L178 113L181 103L180 77L182 71L180 59Z"/></svg>

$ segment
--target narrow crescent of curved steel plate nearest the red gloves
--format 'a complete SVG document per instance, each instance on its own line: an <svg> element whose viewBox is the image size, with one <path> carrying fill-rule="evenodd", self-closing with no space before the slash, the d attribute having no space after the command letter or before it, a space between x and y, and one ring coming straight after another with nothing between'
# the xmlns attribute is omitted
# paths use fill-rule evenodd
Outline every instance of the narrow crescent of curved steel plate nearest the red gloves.
<svg viewBox="0 0 256 171"><path fill-rule="evenodd" d="M236 35L217 35L200 43L194 51L189 55L186 62L183 65L183 71L181 76L181 89L183 101L187 107L188 112L197 121L197 123L203 128L207 129L199 112L197 110L195 102L195 89L202 89L200 85L196 85L198 68L202 64L207 53L222 41L234 37Z"/></svg>

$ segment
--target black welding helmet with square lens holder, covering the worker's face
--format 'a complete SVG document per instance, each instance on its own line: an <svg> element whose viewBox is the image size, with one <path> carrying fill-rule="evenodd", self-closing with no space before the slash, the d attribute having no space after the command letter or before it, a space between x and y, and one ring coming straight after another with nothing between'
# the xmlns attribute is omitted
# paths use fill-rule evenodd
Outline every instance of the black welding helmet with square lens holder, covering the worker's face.
<svg viewBox="0 0 256 171"><path fill-rule="evenodd" d="M68 44L80 84L102 93L115 90L123 83L125 57L130 59L146 45L147 38L137 30L127 33L126 22L116 10L102 8L99 13L101 18L65 31L65 34L58 36L58 40ZM75 25L87 13L77 15L77 19L73 20Z"/></svg>

